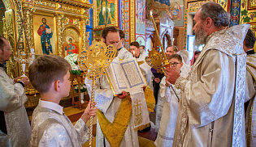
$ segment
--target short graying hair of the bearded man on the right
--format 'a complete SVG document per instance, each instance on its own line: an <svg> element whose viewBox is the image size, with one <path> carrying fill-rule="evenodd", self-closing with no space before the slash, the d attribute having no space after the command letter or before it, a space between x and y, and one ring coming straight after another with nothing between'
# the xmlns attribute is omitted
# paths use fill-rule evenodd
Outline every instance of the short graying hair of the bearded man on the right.
<svg viewBox="0 0 256 147"><path fill-rule="evenodd" d="M222 6L215 2L206 2L201 7L200 19L205 21L207 17L213 20L216 27L228 27L230 15Z"/></svg>

